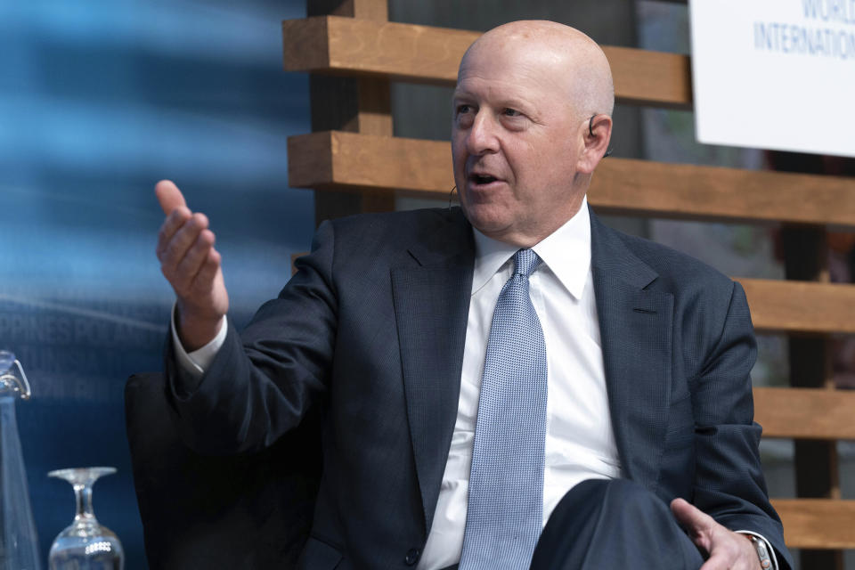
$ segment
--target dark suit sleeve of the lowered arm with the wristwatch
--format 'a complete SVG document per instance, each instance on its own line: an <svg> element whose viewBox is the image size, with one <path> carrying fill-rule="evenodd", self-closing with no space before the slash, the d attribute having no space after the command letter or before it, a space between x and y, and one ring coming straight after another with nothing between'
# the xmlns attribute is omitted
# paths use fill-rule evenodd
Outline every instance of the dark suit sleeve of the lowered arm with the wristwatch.
<svg viewBox="0 0 855 570"><path fill-rule="evenodd" d="M731 530L765 536L783 570L792 560L769 503L758 447L761 427L753 421L750 372L756 354L745 291L734 282L721 335L690 380L696 422L693 502Z"/></svg>

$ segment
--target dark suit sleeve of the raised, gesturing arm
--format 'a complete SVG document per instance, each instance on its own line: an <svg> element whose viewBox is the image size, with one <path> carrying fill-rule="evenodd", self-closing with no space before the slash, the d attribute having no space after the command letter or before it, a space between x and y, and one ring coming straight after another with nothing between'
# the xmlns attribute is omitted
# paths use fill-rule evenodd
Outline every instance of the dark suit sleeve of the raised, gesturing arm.
<svg viewBox="0 0 855 570"><path fill-rule="evenodd" d="M324 223L312 253L279 297L238 333L229 320L223 346L187 390L167 342L167 399L185 444L202 453L263 449L296 428L328 389L337 327L332 278L334 231Z"/></svg>

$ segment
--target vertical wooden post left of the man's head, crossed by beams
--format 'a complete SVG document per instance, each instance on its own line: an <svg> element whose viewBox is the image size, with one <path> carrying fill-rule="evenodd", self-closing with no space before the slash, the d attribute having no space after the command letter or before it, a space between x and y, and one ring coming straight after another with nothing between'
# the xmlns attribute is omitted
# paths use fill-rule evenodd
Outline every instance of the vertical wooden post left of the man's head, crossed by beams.
<svg viewBox="0 0 855 570"><path fill-rule="evenodd" d="M307 0L309 16L334 14L363 20L389 19L387 0ZM385 79L309 77L312 130L340 130L391 136L392 110L389 82ZM360 212L395 209L395 195L388 191L314 191L314 220L349 216Z"/></svg>

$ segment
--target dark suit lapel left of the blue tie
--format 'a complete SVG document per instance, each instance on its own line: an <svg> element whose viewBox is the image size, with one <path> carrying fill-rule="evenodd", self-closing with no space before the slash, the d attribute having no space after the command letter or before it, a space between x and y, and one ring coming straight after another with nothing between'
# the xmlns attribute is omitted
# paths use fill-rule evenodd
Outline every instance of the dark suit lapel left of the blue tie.
<svg viewBox="0 0 855 570"><path fill-rule="evenodd" d="M407 418L429 529L460 399L475 247L459 210L392 269Z"/></svg>

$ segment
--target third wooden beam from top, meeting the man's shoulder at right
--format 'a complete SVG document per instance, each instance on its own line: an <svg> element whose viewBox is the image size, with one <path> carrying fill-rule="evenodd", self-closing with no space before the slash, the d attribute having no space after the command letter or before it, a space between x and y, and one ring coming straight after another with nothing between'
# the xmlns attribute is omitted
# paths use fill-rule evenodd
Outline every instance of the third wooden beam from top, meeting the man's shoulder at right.
<svg viewBox="0 0 855 570"><path fill-rule="evenodd" d="M855 334L855 285L737 278L759 332ZM855 417L855 416L853 416Z"/></svg>

